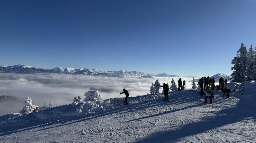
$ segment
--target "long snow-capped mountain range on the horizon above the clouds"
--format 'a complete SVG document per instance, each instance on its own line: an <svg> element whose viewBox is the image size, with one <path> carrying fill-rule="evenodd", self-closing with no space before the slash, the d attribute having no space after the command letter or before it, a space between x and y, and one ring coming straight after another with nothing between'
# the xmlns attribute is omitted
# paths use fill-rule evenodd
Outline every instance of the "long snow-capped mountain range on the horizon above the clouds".
<svg viewBox="0 0 256 143"><path fill-rule="evenodd" d="M0 73L16 73L16 74L74 74L74 75L91 75L91 76L106 76L106 77L123 77L123 76L140 76L144 78L156 77L195 77L195 76L178 76L163 74L146 74L143 72L119 70L119 71L104 71L98 69L87 69L87 68L66 68L66 67L55 67L53 69L36 68L25 65L14 65L14 66L0 66ZM153 78L153 77L152 77ZM198 78L198 77L196 77Z"/></svg>

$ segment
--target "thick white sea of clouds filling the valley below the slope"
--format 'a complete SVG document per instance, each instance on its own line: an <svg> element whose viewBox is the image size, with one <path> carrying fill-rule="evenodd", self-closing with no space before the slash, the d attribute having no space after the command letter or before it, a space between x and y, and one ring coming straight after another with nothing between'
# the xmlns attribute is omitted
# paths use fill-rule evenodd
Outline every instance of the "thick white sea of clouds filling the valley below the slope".
<svg viewBox="0 0 256 143"><path fill-rule="evenodd" d="M0 115L22 110L23 102L27 97L33 100L33 104L42 107L52 102L53 107L73 102L74 96L84 99L84 93L98 89L102 99L118 97L123 88L126 88L130 97L146 95L150 92L150 86L155 83L168 83L171 85L170 77L155 77L154 79L138 77L100 77L85 75L66 74L4 74L0 73L0 95L17 97L17 102L8 103L0 101ZM179 78L174 78L176 84ZM191 78L186 80L186 88L191 88ZM120 97L125 97L122 94ZM13 105L10 107L10 105Z"/></svg>

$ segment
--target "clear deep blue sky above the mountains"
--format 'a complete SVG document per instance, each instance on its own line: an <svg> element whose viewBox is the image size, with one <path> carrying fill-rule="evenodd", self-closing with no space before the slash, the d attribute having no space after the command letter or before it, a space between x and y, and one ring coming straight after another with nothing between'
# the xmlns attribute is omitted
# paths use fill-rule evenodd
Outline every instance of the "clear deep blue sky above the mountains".
<svg viewBox="0 0 256 143"><path fill-rule="evenodd" d="M232 73L255 0L0 0L0 65Z"/></svg>

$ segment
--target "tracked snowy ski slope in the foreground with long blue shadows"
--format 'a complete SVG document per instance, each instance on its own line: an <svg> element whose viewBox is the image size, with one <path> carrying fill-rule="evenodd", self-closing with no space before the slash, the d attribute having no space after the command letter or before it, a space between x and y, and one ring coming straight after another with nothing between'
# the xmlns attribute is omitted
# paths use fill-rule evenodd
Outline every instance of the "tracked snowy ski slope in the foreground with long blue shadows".
<svg viewBox="0 0 256 143"><path fill-rule="evenodd" d="M7 114L0 116L0 142L255 143L255 83L238 83L227 99L214 90L213 104L209 99L204 104L200 91L189 89L170 91L172 102L159 94L129 97L130 104L124 105L120 96L121 101L111 98Z"/></svg>

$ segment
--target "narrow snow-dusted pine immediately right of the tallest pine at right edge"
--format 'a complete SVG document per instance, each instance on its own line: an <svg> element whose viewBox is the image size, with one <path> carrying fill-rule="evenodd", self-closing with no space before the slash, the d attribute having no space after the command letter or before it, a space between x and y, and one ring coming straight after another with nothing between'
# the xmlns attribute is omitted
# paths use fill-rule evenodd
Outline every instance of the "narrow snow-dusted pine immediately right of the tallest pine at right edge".
<svg viewBox="0 0 256 143"><path fill-rule="evenodd" d="M248 68L247 68L247 80L253 79L253 66L254 66L254 56L253 45L250 46L248 51Z"/></svg>

